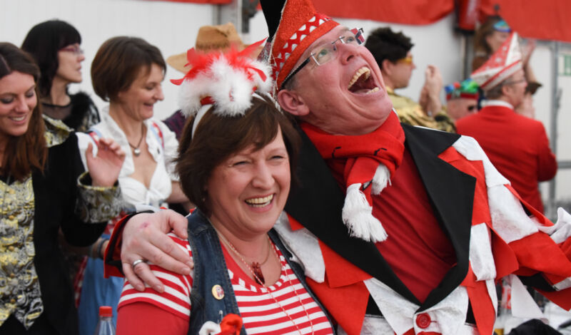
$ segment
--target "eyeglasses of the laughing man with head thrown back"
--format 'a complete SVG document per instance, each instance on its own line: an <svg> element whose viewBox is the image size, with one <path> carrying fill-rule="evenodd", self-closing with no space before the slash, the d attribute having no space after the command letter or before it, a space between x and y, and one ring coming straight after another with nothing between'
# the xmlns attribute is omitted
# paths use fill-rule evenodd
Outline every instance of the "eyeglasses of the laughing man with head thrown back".
<svg viewBox="0 0 571 335"><path fill-rule="evenodd" d="M303 68L303 66L308 65L310 61L313 61L313 63L315 63L315 66L321 66L327 63L328 61L335 59L335 57L337 57L337 46L335 46L335 43L337 43L338 41L343 44L352 44L354 46L360 46L361 44L365 43L365 37L363 36L363 28L350 29L344 31L341 36L335 38L333 41L324 43L320 46L316 46L315 48L313 48L313 50L310 53L310 56L308 58L305 58L305 61L303 61L297 68L295 68L295 70L291 71L289 76L285 77L285 79L281 83L281 86L282 87L285 86L285 83L287 83L291 78L293 78L293 76L295 76L295 73L298 73Z"/></svg>

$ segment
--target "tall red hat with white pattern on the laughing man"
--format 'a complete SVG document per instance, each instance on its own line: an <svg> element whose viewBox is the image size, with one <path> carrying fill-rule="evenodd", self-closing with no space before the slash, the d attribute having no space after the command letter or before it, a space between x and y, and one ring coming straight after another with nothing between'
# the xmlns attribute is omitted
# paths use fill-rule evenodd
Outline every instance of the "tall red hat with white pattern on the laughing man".
<svg viewBox="0 0 571 335"><path fill-rule="evenodd" d="M269 61L277 90L305 50L338 22L315 11L310 0L261 0L271 40Z"/></svg>

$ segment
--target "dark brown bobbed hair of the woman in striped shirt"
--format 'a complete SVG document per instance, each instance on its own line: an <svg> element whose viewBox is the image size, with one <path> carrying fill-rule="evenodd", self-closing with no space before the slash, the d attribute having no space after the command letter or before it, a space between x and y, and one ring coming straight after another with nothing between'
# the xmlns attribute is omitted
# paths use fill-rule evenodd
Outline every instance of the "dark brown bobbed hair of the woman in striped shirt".
<svg viewBox="0 0 571 335"><path fill-rule="evenodd" d="M288 118L281 113L271 98L253 98L246 115L220 116L211 110L199 121L192 135L194 118L189 118L178 145L176 170L184 194L206 215L210 215L206 183L211 173L224 160L240 150L254 145L260 150L271 143L281 129L285 148L290 158L290 173L295 171L300 138ZM295 178L292 177L292 182Z"/></svg>

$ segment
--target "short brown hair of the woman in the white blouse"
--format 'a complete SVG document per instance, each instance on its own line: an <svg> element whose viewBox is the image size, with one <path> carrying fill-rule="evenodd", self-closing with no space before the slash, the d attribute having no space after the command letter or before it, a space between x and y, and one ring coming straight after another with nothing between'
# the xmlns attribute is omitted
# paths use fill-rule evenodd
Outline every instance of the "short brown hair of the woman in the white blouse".
<svg viewBox="0 0 571 335"><path fill-rule="evenodd" d="M156 64L166 72L161 51L143 38L117 36L103 42L91 63L91 83L103 100L116 100L128 90L141 70L151 71Z"/></svg>

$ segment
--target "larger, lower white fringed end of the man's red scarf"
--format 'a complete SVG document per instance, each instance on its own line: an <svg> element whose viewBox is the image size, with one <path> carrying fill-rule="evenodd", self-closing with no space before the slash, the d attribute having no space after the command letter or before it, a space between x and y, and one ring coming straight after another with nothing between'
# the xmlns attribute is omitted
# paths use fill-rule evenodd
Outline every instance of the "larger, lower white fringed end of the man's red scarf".
<svg viewBox="0 0 571 335"><path fill-rule="evenodd" d="M387 239L387 232L380 221L373 217L373 207L360 190L361 184L347 187L345 204L343 205L343 222L353 237L371 242L382 242Z"/></svg>

